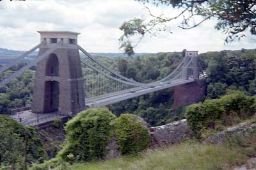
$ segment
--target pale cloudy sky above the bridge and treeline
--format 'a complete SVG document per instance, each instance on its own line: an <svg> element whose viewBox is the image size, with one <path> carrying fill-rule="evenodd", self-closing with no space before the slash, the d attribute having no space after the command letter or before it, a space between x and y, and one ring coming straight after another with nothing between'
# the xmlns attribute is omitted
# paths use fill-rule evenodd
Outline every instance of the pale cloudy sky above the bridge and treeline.
<svg viewBox="0 0 256 170"><path fill-rule="evenodd" d="M154 7L152 12L177 13ZM36 31L62 30L81 33L79 45L89 52L122 52L118 49L118 38L122 35L118 27L134 17L149 17L147 10L133 0L3 0L0 1L0 13L1 48L28 50L39 42ZM250 38L243 38L240 42L224 44L225 34L214 29L215 20L207 20L189 30L180 29L179 22L172 23L173 34L146 36L136 47L136 52L255 48L256 41L252 38L256 37L250 34Z"/></svg>

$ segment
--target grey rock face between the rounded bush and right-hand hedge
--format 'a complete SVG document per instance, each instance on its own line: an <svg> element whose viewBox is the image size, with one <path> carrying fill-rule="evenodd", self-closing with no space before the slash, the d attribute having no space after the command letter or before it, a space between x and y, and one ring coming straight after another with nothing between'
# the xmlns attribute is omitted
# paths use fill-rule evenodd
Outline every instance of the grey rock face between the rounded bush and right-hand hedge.
<svg viewBox="0 0 256 170"><path fill-rule="evenodd" d="M194 138L186 120L168 123L159 127L150 127L148 128L148 132L150 134L151 148L180 143L184 140Z"/></svg>

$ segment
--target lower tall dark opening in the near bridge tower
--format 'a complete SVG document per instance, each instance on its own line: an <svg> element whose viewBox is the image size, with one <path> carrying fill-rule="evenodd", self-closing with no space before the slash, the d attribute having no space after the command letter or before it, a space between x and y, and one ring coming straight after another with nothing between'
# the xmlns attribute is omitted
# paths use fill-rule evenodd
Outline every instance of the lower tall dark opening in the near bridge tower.
<svg viewBox="0 0 256 170"><path fill-rule="evenodd" d="M60 83L58 81L45 82L44 112L58 112L60 95Z"/></svg>

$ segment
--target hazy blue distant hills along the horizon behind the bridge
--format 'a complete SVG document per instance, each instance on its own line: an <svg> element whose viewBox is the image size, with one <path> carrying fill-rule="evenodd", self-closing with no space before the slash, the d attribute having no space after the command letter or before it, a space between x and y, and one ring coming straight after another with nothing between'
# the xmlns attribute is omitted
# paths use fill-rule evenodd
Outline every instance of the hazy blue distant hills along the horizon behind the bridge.
<svg viewBox="0 0 256 170"><path fill-rule="evenodd" d="M0 64L10 63L10 61L19 57L24 52L25 51L0 48ZM29 55L29 58L35 57L35 56L37 56L37 54L38 54L38 51L35 51ZM92 52L90 54L92 54L93 56L102 56L102 57L108 57L108 58L127 57L127 55L124 53ZM136 54L134 54L134 56L145 56L147 54L150 54L150 53L136 53ZM80 53L80 56L83 57L85 55ZM27 59L29 60L29 58L27 58Z"/></svg>

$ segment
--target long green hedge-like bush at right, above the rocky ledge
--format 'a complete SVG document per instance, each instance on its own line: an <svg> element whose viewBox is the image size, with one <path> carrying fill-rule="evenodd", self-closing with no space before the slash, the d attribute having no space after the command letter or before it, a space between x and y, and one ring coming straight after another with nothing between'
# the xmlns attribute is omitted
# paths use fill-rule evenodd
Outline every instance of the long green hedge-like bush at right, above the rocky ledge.
<svg viewBox="0 0 256 170"><path fill-rule="evenodd" d="M254 113L255 98L238 91L220 99L189 105L186 109L186 118L195 136L200 138L207 128L216 129L220 125L234 125Z"/></svg>

